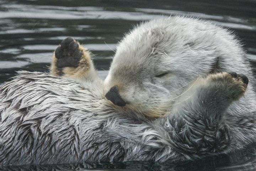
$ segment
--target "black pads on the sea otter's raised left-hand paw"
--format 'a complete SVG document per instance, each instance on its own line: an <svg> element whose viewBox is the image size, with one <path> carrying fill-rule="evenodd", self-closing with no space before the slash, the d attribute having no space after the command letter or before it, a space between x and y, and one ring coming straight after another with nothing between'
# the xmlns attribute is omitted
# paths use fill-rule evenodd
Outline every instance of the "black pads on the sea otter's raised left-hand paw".
<svg viewBox="0 0 256 171"><path fill-rule="evenodd" d="M77 67L79 60L82 57L82 52L78 49L79 45L73 38L68 37L64 39L60 46L55 50L55 57L58 68L63 67Z"/></svg>

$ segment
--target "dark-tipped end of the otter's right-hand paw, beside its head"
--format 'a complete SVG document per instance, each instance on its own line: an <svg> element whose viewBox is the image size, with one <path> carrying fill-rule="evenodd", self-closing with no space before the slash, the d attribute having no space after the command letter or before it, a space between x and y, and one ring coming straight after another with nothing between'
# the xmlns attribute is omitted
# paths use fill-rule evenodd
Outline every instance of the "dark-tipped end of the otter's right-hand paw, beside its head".
<svg viewBox="0 0 256 171"><path fill-rule="evenodd" d="M220 96L238 100L244 95L249 79L243 74L232 72L209 75L207 82L218 89Z"/></svg>

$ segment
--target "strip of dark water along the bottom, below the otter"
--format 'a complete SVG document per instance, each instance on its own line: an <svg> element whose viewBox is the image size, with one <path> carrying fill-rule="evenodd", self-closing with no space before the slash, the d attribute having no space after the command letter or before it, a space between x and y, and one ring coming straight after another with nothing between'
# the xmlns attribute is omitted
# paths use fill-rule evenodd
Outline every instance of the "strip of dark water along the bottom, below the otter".
<svg viewBox="0 0 256 171"><path fill-rule="evenodd" d="M231 155L208 157L203 160L181 162L173 164L171 162L101 162L101 163L80 163L80 164L52 164L33 166L10 166L1 167L4 171L255 171L256 154L254 147L238 151Z"/></svg>

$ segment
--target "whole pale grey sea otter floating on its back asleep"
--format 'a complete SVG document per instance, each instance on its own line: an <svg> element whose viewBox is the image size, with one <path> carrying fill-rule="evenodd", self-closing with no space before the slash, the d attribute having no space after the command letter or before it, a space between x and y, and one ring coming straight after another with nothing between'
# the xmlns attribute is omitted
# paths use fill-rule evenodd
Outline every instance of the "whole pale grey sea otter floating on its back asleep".
<svg viewBox="0 0 256 171"><path fill-rule="evenodd" d="M176 162L241 149L256 140L244 55L224 28L161 17L126 34L102 81L66 38L51 75L21 71L0 87L0 164Z"/></svg>

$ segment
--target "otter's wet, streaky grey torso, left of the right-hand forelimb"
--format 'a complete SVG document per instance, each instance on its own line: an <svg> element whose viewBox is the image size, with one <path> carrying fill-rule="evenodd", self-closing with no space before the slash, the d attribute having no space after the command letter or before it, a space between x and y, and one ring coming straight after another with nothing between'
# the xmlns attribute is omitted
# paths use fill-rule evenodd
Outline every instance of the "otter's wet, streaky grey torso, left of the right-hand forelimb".
<svg viewBox="0 0 256 171"><path fill-rule="evenodd" d="M0 89L1 165L179 160L155 140L153 123L111 109L95 87L101 82L83 86L43 73L19 74ZM162 150L170 154L161 156Z"/></svg>

